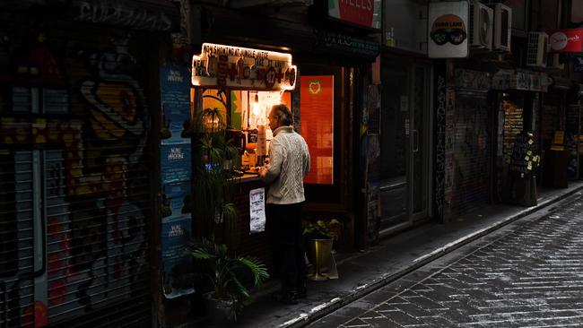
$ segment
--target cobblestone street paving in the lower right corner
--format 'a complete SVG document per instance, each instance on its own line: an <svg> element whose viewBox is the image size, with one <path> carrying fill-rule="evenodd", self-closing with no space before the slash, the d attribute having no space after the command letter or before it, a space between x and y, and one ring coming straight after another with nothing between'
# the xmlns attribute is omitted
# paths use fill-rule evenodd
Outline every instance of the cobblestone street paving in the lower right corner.
<svg viewBox="0 0 583 328"><path fill-rule="evenodd" d="M310 327L583 327L582 202L462 247Z"/></svg>

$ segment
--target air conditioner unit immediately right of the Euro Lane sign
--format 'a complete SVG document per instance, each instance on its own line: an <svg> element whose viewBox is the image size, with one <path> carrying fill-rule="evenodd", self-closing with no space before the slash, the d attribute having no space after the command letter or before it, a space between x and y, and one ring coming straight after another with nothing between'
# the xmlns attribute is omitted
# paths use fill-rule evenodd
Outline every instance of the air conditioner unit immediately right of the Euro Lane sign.
<svg viewBox="0 0 583 328"><path fill-rule="evenodd" d="M477 0L470 2L470 47L492 49L494 11Z"/></svg>

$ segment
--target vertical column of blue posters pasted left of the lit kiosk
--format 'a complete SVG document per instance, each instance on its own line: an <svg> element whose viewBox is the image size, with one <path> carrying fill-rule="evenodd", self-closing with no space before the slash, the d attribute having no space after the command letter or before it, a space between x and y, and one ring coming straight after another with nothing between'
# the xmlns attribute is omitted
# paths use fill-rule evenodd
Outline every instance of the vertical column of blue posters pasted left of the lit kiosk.
<svg viewBox="0 0 583 328"><path fill-rule="evenodd" d="M191 237L191 149L183 136L190 117L190 72L161 66L161 280L165 298L192 294L192 257L185 254Z"/></svg>

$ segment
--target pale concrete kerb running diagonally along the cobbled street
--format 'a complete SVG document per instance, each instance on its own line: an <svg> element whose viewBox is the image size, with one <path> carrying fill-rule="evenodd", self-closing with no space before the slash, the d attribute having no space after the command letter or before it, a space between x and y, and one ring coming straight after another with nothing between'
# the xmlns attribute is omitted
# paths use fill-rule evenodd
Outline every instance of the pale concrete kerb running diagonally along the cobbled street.
<svg viewBox="0 0 583 328"><path fill-rule="evenodd" d="M476 240L479 237L483 237L494 230L500 229L516 220L526 217L529 214L534 213L535 211L539 211L544 209L545 207L557 203L572 194L575 194L579 191L583 190L583 185L574 187L563 194L557 194L555 196L549 197L549 199L544 200L541 203L536 204L535 206L528 207L522 211L518 211L518 213L514 213L502 220L499 220L492 225L475 231L474 233L457 239L451 243L448 243L446 246L440 247L435 251L431 252L428 255L423 255L422 257L415 260L415 263L412 263L410 266L407 266L405 269L400 270L398 272L394 272L392 274L388 274L387 276L381 277L378 281L374 281L369 285L361 287L360 289L354 290L353 292L349 293L345 296L339 296L337 298L333 298L330 301L313 308L309 314L302 314L299 315L297 318L294 318L288 322L280 324L279 327L282 328L298 328L304 327L314 321L324 317L325 315L329 315L330 313L334 312L335 310L352 303L353 301L362 298L371 292L381 289L382 287L386 286L387 284L398 280L399 278L404 277L405 275L421 268L423 265L431 263L432 261L438 259L443 255L447 255L448 253L456 250L461 246L465 246L466 244L471 243L472 241Z"/></svg>

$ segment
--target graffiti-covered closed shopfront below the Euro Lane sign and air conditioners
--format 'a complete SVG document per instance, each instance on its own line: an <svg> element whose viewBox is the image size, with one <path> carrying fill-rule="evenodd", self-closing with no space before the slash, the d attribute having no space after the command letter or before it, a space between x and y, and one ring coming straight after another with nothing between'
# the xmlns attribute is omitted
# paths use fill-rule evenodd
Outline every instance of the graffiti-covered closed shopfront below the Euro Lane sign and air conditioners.
<svg viewBox="0 0 583 328"><path fill-rule="evenodd" d="M474 211L490 201L492 147L489 140L490 75L465 69L451 72L454 72L453 84L445 91L446 220Z"/></svg>

